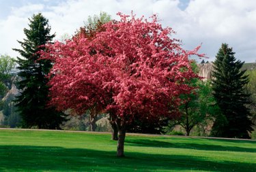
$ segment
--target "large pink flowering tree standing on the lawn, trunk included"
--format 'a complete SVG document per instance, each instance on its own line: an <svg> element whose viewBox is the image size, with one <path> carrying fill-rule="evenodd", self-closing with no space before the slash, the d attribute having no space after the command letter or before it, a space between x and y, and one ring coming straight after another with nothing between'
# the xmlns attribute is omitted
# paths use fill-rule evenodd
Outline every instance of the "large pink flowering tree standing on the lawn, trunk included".
<svg viewBox="0 0 256 172"><path fill-rule="evenodd" d="M156 16L118 15L94 37L55 42L42 54L54 63L51 104L78 114L95 107L109 113L118 130L117 156L124 156L126 126L134 118L179 115L180 94L190 93L187 83L197 78L188 56L199 55L199 47L183 50Z"/></svg>

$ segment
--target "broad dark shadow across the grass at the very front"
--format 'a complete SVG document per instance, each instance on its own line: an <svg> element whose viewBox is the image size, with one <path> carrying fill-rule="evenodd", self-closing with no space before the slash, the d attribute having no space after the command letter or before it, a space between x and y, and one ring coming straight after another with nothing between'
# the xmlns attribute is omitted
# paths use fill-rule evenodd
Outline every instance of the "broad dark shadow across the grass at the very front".
<svg viewBox="0 0 256 172"><path fill-rule="evenodd" d="M126 152L125 158L115 152L1 145L0 171L255 171L255 164L214 162L199 156L160 155Z"/></svg>

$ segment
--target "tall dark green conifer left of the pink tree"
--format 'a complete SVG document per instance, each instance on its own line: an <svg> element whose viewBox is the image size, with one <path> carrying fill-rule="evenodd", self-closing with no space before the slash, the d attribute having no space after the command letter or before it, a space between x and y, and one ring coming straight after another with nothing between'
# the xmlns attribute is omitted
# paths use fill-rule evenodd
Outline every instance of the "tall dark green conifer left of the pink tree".
<svg viewBox="0 0 256 172"><path fill-rule="evenodd" d="M59 128L59 124L65 119L63 113L55 111L54 107L48 106L47 73L52 67L51 61L38 60L44 50L42 45L51 43L55 35L50 34L51 27L48 20L42 14L33 15L29 19L29 29L24 29L26 39L18 41L23 50L13 49L20 53L23 58L18 63L18 76L21 80L17 87L21 90L16 97L16 107L23 119L23 127L31 128Z"/></svg>

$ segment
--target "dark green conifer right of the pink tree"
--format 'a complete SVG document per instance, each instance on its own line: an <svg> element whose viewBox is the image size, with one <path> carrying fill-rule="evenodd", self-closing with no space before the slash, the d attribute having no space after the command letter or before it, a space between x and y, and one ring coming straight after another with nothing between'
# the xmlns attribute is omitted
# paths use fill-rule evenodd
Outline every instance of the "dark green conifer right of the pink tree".
<svg viewBox="0 0 256 172"><path fill-rule="evenodd" d="M212 135L248 139L248 133L253 131L251 114L246 107L249 95L244 92L248 75L241 70L244 62L236 61L234 54L232 48L222 44L214 61L212 89L222 114L216 116Z"/></svg>

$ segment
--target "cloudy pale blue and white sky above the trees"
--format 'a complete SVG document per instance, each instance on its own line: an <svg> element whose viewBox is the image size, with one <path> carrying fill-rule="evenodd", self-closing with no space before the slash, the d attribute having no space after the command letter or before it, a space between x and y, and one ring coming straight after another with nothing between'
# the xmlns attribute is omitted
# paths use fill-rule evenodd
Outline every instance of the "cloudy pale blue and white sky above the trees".
<svg viewBox="0 0 256 172"><path fill-rule="evenodd" d="M202 44L201 53L209 61L222 43L227 43L241 61L256 61L255 0L0 0L0 54L18 56L25 38L28 18L41 12L48 18L56 39L73 35L88 16L106 12L118 19L117 12L138 17L158 14L164 27L176 31L183 47L191 50Z"/></svg>

